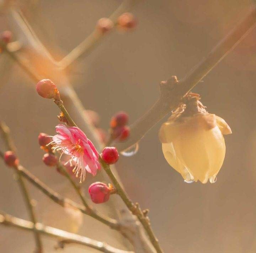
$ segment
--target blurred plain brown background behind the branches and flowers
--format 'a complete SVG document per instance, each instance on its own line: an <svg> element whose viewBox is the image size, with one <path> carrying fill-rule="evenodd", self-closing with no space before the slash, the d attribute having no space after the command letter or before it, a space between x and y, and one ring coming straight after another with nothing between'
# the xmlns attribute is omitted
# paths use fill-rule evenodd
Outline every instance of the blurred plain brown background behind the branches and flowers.
<svg viewBox="0 0 256 253"><path fill-rule="evenodd" d="M59 55L79 44L97 20L109 16L120 2L44 0L33 8L26 7L27 1L21 6L43 44ZM119 110L126 111L132 123L158 98L159 82L171 75L183 77L246 15L253 2L138 1L132 10L138 27L133 32L107 35L69 73L71 83L85 108L100 114L102 128L107 130L111 116ZM0 29L10 29L4 15ZM73 198L64 178L42 163L43 151L37 143L39 132L54 134L58 108L36 94L35 83L16 64L1 57L0 115L11 128L21 163L50 187ZM193 89L201 94L208 111L223 117L233 131L225 137L226 158L216 183L187 184L167 164L158 140L164 120L146 134L136 155L122 156L117 163L132 200L150 209L151 224L166 253L256 251L255 69L256 29ZM12 171L2 161L0 165L0 209L28 219ZM95 181L88 178L86 194L90 182ZM95 230L95 221L82 222L80 214L64 212L36 188L30 188L38 202L40 221L111 244L107 229ZM54 240L44 239L44 244L45 252L54 252ZM118 240L112 245L119 246ZM0 226L0 252L32 252L33 246L32 233ZM85 250L78 246L65 249Z"/></svg>

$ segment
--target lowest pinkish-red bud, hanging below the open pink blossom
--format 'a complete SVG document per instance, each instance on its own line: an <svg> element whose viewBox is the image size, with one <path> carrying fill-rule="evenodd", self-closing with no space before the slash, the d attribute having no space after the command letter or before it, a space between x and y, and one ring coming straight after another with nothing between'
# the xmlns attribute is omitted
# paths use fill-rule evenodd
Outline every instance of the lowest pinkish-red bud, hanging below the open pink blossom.
<svg viewBox="0 0 256 253"><path fill-rule="evenodd" d="M111 188L108 187L105 183L95 182L89 186L88 191L90 193L92 202L100 204L108 201Z"/></svg>

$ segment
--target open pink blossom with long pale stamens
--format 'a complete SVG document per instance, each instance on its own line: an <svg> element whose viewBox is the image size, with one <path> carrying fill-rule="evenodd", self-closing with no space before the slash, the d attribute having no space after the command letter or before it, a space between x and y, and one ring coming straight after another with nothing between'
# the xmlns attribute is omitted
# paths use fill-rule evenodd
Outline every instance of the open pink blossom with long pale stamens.
<svg viewBox="0 0 256 253"><path fill-rule="evenodd" d="M86 137L78 127L66 127L64 125L56 126L56 134L53 136L53 152L57 151L70 155L68 162L75 161L73 172L76 177L80 174L80 182L85 180L85 173L88 171L93 176L100 169L98 161L98 152L92 142ZM49 143L50 144L50 143Z"/></svg>

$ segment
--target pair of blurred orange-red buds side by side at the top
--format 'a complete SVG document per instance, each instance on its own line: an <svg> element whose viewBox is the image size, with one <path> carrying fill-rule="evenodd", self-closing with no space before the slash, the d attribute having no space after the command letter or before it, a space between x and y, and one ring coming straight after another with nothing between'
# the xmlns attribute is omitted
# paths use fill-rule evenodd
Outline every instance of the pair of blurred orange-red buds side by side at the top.
<svg viewBox="0 0 256 253"><path fill-rule="evenodd" d="M116 26L122 31L129 31L135 28L137 20L132 13L126 12L117 18ZM114 22L110 18L101 18L98 20L96 29L100 33L104 34L115 26Z"/></svg>

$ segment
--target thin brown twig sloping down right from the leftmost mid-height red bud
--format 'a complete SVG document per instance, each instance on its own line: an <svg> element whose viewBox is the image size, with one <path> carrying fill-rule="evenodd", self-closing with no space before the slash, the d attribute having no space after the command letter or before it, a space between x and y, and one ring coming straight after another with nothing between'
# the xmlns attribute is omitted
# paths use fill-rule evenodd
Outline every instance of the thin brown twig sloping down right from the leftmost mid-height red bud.
<svg viewBox="0 0 256 253"><path fill-rule="evenodd" d="M31 172L25 169L22 165L19 165L17 167L18 171L22 174L23 177L25 177L27 180L29 180L34 186L36 186L41 192L46 194L50 199L52 199L55 203L61 205L62 207L66 207L67 205L74 207L75 209L80 210L82 213L87 214L98 221L102 222L103 224L106 224L107 226L111 227L112 229L118 230L119 224L116 220L107 217L103 214L98 213L96 210L90 209L88 211L85 207L82 205L72 201L71 199L64 198L60 196L59 193L55 192L53 189L45 185L43 182L41 182L36 176L34 176Z"/></svg>

